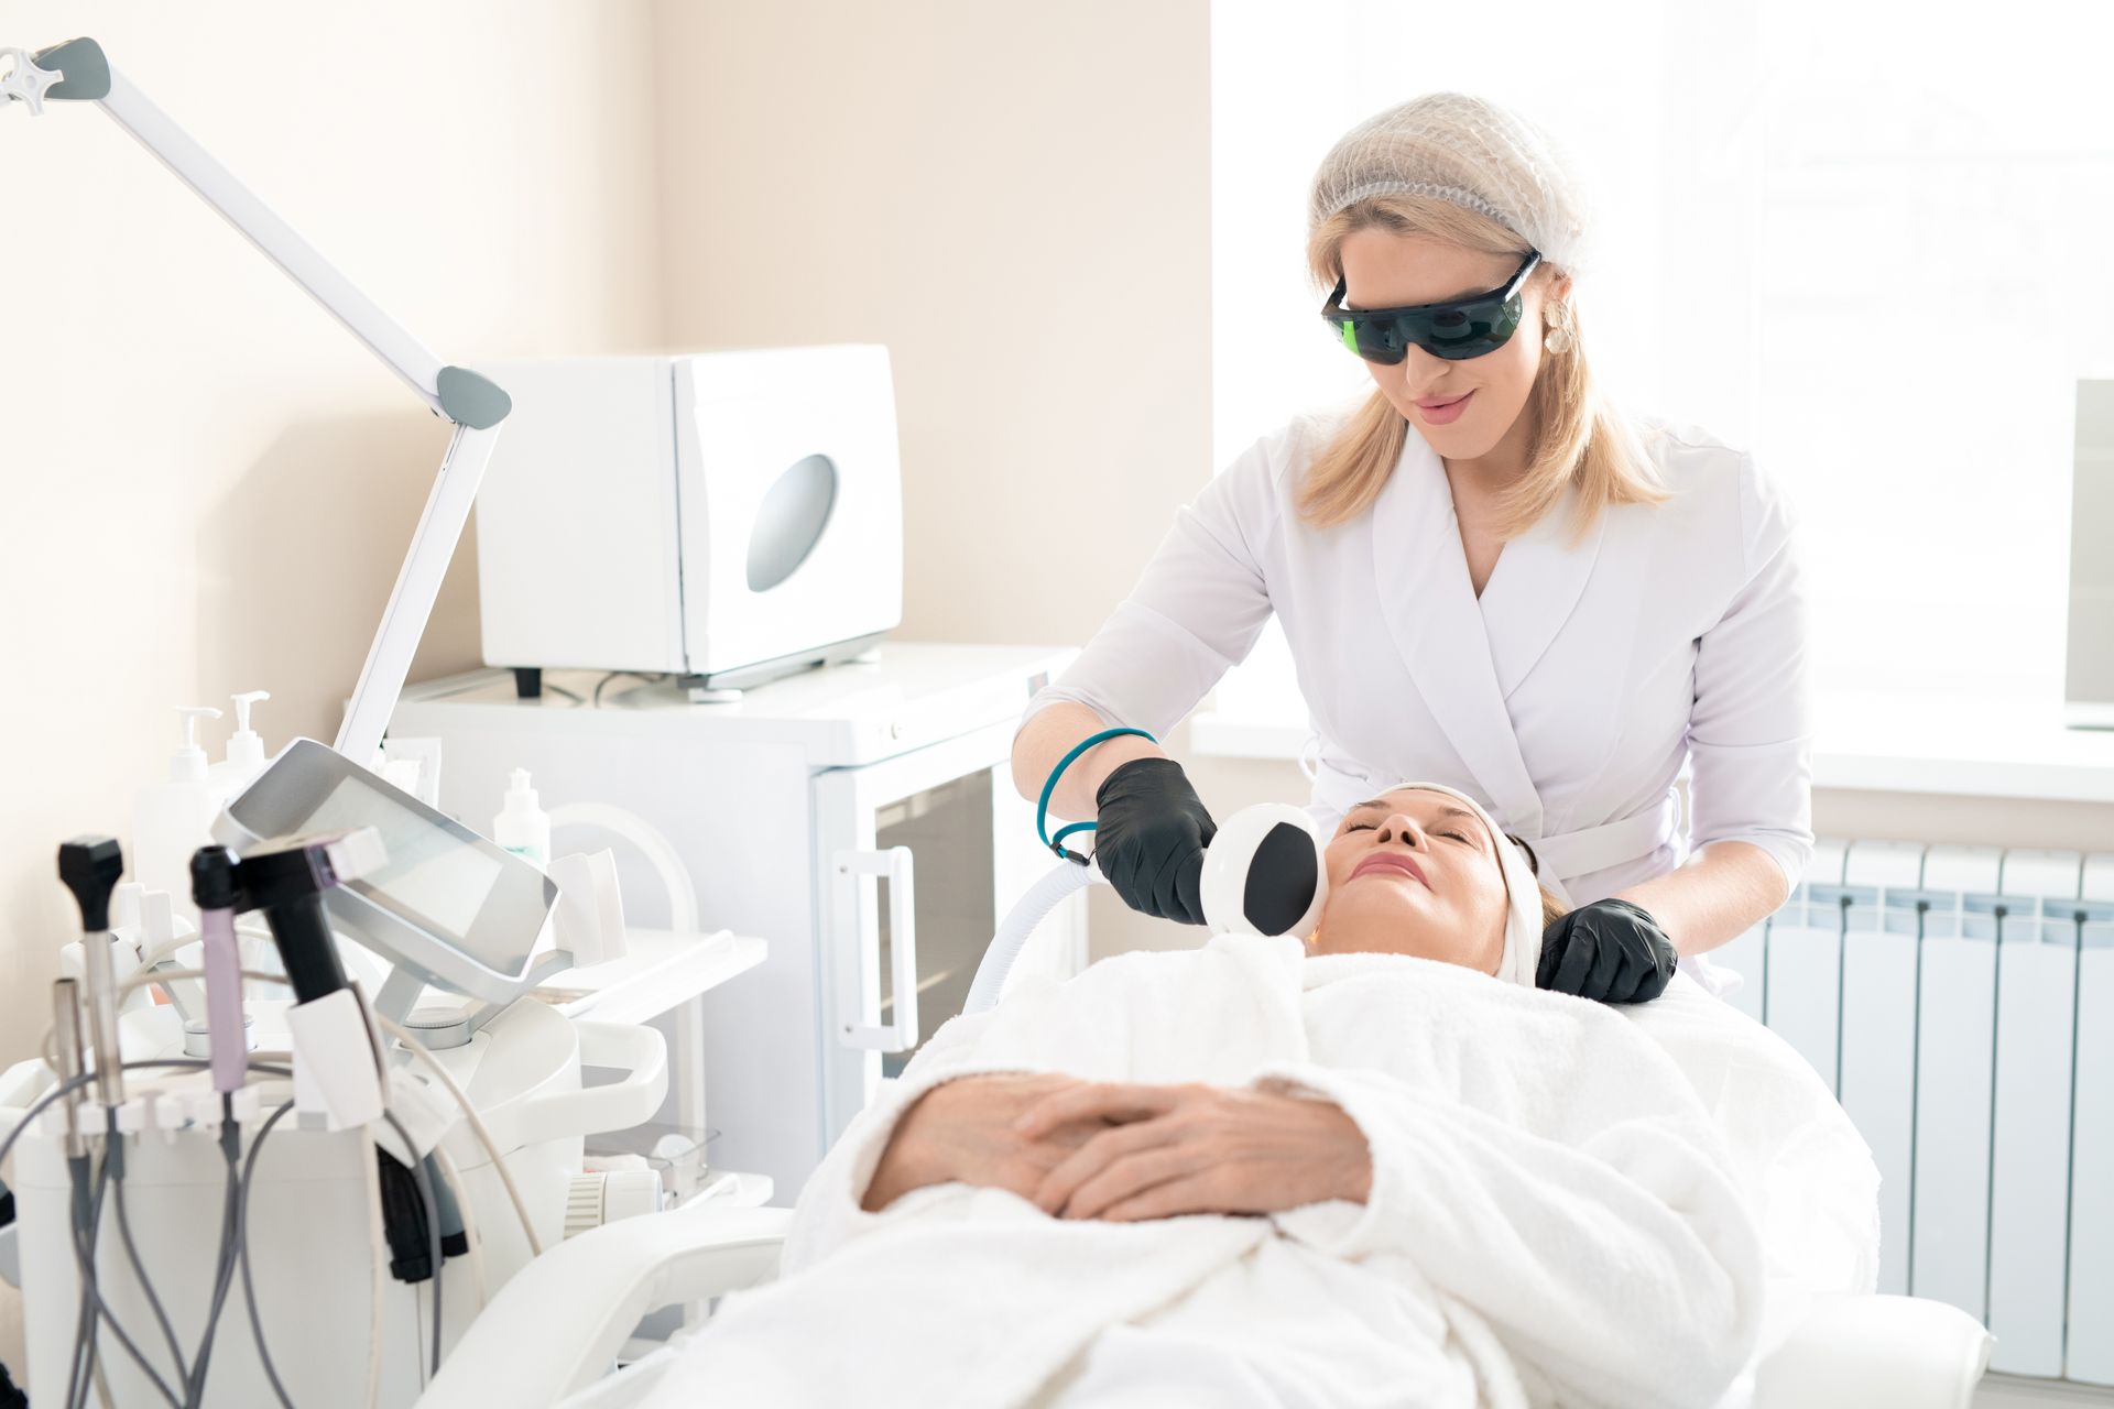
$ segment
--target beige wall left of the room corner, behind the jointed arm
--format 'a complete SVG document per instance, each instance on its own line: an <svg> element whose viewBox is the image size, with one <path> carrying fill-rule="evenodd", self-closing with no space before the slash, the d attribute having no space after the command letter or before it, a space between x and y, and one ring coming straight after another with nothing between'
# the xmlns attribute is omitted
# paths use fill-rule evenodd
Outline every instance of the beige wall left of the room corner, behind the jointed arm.
<svg viewBox="0 0 2114 1409"><path fill-rule="evenodd" d="M17 0L95 36L442 361L660 334L645 0ZM76 832L178 703L336 729L446 427L110 118L0 112L0 1063L49 1025ZM476 663L465 539L414 674ZM207 731L220 756L226 731ZM4 1291L4 1289L0 1289ZM0 1301L0 1358L19 1360Z"/></svg>

